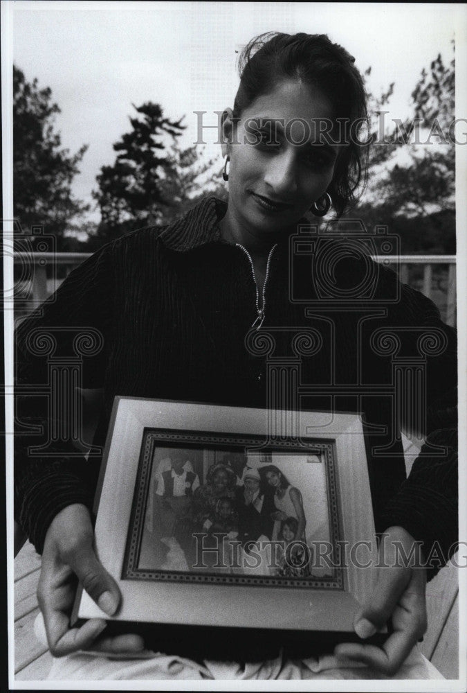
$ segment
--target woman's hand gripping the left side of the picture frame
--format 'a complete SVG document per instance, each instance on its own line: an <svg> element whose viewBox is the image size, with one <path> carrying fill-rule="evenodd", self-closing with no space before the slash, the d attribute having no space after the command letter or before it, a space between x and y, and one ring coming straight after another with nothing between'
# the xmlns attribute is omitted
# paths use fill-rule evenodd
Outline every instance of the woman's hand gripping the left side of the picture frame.
<svg viewBox="0 0 467 693"><path fill-rule="evenodd" d="M140 651L144 647L139 635L119 635L95 642L107 625L102 618L92 618L80 628L70 628L78 581L109 616L120 605L120 590L98 560L93 543L91 518L84 505L64 508L48 528L37 601L44 617L48 647L55 657L91 646L93 650L111 653Z"/></svg>

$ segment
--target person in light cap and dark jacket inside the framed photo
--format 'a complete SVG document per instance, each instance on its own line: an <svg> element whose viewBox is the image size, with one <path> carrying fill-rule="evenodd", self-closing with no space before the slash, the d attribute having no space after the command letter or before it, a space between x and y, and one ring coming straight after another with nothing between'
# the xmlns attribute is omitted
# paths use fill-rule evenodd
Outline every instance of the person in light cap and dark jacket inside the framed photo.
<svg viewBox="0 0 467 693"><path fill-rule="evenodd" d="M271 501L264 493L256 468L244 469L242 486L235 491L235 504L239 516L239 541L245 545L259 538L270 540L273 530Z"/></svg>

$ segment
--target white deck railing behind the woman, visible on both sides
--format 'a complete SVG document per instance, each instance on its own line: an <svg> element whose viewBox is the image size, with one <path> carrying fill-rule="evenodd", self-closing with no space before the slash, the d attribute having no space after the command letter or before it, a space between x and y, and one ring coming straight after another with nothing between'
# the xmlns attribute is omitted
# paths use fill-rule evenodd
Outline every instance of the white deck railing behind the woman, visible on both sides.
<svg viewBox="0 0 467 693"><path fill-rule="evenodd" d="M15 292L26 311L42 303L64 278L91 253L17 253L15 254ZM375 256L399 272L403 283L419 289L432 299L449 325L456 322L456 256L399 255Z"/></svg>

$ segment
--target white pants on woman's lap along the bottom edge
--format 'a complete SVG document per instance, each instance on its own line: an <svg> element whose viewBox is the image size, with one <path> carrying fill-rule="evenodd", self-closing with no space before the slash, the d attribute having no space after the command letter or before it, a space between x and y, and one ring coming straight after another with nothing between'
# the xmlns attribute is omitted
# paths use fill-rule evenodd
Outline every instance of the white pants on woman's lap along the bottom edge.
<svg viewBox="0 0 467 693"><path fill-rule="evenodd" d="M48 681L160 681L167 679L443 679L443 676L414 647L395 676L385 676L374 669L342 666L331 655L306 660L286 660L282 657L262 663L238 664L205 660L200 665L192 660L153 654L144 659L109 659L103 656L76 653L55 659Z"/></svg>

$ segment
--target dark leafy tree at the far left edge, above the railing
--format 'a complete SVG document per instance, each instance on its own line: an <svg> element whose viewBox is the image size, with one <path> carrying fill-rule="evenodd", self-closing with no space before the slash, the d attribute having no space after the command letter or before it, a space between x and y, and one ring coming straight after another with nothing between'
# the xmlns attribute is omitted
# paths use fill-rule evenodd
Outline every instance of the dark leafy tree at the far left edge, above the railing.
<svg viewBox="0 0 467 693"><path fill-rule="evenodd" d="M21 227L38 225L57 237L57 249L66 249L66 232L75 229L76 218L89 205L71 193L78 164L86 152L83 145L74 155L62 148L55 131L59 107L50 87L39 89L37 79L27 82L13 67L13 196L15 218Z"/></svg>

